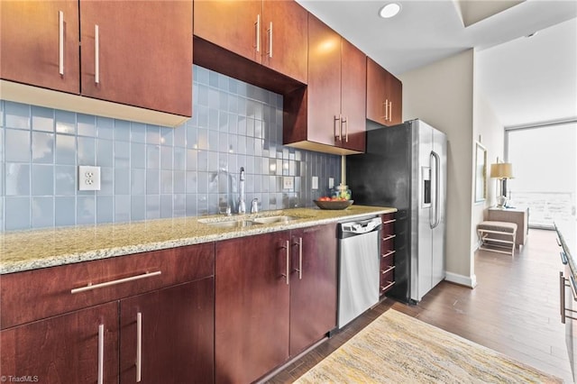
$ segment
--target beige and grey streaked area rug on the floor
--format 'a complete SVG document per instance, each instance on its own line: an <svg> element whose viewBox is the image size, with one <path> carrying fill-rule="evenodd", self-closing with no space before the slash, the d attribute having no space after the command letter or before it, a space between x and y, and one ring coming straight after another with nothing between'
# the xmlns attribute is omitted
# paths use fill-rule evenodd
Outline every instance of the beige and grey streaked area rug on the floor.
<svg viewBox="0 0 577 384"><path fill-rule="evenodd" d="M389 309L297 383L561 383L552 375Z"/></svg>

